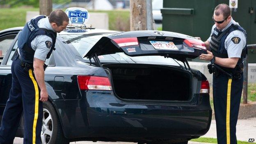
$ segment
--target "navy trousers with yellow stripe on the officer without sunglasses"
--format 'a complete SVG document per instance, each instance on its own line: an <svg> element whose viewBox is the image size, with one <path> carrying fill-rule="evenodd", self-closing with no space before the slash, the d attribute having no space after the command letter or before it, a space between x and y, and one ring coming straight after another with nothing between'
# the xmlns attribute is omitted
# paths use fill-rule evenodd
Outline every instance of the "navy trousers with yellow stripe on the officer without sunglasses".
<svg viewBox="0 0 256 144"><path fill-rule="evenodd" d="M17 57L11 65L12 85L0 128L0 143L12 144L24 116L23 144L41 144L43 103L32 69L24 71Z"/></svg>

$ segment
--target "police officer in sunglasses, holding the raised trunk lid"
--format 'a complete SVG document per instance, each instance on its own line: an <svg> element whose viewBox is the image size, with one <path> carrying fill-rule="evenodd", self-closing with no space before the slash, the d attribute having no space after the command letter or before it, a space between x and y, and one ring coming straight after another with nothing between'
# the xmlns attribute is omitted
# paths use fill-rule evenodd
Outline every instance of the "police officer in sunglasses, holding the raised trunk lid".
<svg viewBox="0 0 256 144"><path fill-rule="evenodd" d="M204 42L210 51L199 57L213 64L213 103L218 144L236 144L243 58L247 53L246 32L233 20L231 9L226 4L215 7L213 21L215 24L210 37Z"/></svg>

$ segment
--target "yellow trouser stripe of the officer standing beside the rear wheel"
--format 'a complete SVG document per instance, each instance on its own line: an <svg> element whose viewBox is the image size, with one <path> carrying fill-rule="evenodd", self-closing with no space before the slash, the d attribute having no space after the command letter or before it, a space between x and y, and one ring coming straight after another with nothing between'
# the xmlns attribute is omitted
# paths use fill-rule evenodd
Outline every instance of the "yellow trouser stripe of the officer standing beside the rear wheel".
<svg viewBox="0 0 256 144"><path fill-rule="evenodd" d="M36 127L37 127L37 118L38 118L38 102L39 102L39 91L37 86L37 81L34 79L32 74L32 69L29 70L30 78L34 84L35 89L35 107L34 107L34 122L33 122L33 144L36 143Z"/></svg>

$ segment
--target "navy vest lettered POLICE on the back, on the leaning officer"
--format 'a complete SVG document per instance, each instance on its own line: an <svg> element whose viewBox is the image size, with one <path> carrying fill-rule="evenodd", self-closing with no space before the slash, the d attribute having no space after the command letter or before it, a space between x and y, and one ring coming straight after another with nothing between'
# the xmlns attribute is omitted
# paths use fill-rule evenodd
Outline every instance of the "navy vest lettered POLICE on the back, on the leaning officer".
<svg viewBox="0 0 256 144"><path fill-rule="evenodd" d="M53 45L51 46L50 51L46 56L46 59L48 59L52 51L55 50L54 47L57 33L44 28L39 28L37 23L42 18L46 18L46 16L38 16L37 18L28 21L18 36L18 48L20 50L20 57L23 61L30 64L33 63L35 53L35 50L33 50L31 47L31 42L38 35L47 35L53 40Z"/></svg>

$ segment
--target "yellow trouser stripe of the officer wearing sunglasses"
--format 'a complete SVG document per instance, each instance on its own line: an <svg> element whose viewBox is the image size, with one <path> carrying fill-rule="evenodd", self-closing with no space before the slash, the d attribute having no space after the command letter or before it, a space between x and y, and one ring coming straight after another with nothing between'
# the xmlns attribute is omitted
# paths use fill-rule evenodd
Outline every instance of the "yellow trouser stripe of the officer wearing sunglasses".
<svg viewBox="0 0 256 144"><path fill-rule="evenodd" d="M228 91L227 91L227 108L226 108L226 139L227 144L230 144L230 95L231 95L231 83L232 79L229 79L228 82Z"/></svg>

